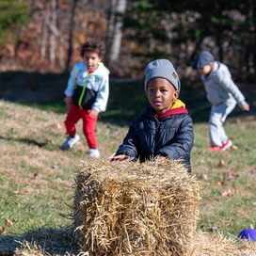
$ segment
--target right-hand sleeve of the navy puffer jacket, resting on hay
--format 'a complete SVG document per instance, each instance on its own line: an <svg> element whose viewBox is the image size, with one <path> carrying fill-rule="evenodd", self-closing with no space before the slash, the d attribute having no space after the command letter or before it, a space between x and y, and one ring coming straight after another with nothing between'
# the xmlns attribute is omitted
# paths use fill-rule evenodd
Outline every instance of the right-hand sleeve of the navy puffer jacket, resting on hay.
<svg viewBox="0 0 256 256"><path fill-rule="evenodd" d="M194 143L193 121L189 115L185 115L180 123L178 131L165 147L161 148L155 155L168 156L168 159L184 159L184 164L190 166L190 152Z"/></svg>

